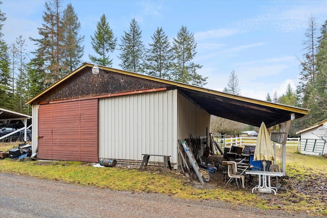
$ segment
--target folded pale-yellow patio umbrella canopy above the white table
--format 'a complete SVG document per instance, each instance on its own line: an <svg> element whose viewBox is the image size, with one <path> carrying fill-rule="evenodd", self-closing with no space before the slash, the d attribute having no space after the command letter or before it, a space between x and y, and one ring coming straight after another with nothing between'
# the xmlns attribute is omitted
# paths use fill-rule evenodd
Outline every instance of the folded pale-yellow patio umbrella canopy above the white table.
<svg viewBox="0 0 327 218"><path fill-rule="evenodd" d="M266 125L262 122L258 133L258 139L256 140L256 146L254 150L254 160L274 160L275 152L270 140L270 134Z"/></svg>

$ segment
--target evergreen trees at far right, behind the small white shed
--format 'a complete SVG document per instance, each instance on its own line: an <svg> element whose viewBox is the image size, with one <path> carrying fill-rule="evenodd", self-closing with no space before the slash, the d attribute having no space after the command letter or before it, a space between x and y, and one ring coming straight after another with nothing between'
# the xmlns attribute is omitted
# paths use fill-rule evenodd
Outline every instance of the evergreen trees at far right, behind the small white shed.
<svg viewBox="0 0 327 218"><path fill-rule="evenodd" d="M303 55L298 57L299 85L292 90L290 84L282 96L274 92L273 99L267 94L266 101L308 108L311 111L299 119L293 120L289 136L295 132L313 126L327 118L327 20L318 27L311 16L304 33Z"/></svg>

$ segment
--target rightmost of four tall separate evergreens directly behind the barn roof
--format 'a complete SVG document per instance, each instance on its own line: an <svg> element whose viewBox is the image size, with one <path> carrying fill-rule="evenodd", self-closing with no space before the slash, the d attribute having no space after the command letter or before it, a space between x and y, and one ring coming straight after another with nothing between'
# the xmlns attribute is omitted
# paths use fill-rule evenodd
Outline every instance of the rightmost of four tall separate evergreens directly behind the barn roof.
<svg viewBox="0 0 327 218"><path fill-rule="evenodd" d="M182 26L177 33L177 37L173 39L173 80L197 86L206 84L207 77L204 78L196 72L202 66L192 62L197 53L196 47L194 35L186 27Z"/></svg>

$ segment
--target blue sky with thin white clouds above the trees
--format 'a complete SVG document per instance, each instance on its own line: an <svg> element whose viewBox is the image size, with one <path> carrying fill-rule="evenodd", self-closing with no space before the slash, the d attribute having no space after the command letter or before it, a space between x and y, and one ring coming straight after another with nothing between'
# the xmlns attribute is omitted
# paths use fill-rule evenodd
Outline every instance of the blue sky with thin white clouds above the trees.
<svg viewBox="0 0 327 218"><path fill-rule="evenodd" d="M10 45L22 35L27 50L36 47L29 37L40 38L45 1L3 0L0 9L7 20L4 40ZM290 83L296 89L304 34L311 15L318 28L327 20L327 1L63 1L62 10L72 3L85 35L83 61L95 55L90 44L97 22L104 13L113 34L121 43L133 18L142 30L148 47L157 27L170 40L181 26L194 34L202 65L198 73L208 77L206 88L222 91L231 70L239 79L241 95L265 100L267 93L280 96ZM119 52L110 54L113 68L120 69Z"/></svg>

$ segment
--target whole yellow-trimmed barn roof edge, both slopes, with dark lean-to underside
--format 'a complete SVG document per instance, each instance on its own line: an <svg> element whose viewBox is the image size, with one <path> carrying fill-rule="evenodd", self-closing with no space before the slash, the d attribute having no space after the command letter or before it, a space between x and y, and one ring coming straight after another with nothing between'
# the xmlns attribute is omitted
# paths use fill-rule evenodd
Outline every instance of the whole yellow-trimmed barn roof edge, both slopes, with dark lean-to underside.
<svg viewBox="0 0 327 218"><path fill-rule="evenodd" d="M40 92L29 100L26 104L32 104L41 95L50 91L68 78L73 77L80 70L88 67L91 73L93 64L85 63L71 74L67 75L54 85ZM119 74L129 75L137 78L148 79L152 81L169 84L171 89L177 88L184 95L188 96L197 105L206 110L209 114L235 120L240 123L260 127L264 122L267 128L277 124L284 123L290 119L296 119L306 115L310 110L292 107L288 105L276 104L261 100L245 98L243 96L228 94L220 91L206 89L198 86L184 84L176 81L165 80L161 78L151 77L143 74L136 74L125 70L99 66L101 70L109 70Z"/></svg>

